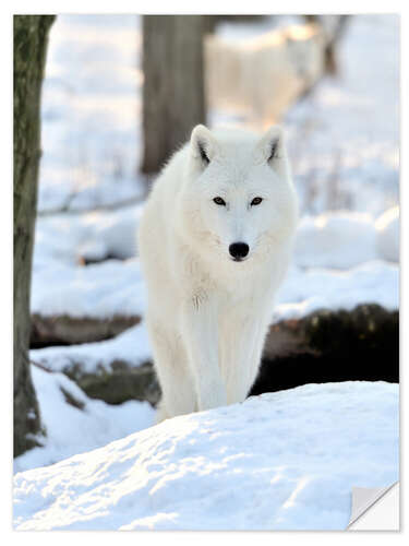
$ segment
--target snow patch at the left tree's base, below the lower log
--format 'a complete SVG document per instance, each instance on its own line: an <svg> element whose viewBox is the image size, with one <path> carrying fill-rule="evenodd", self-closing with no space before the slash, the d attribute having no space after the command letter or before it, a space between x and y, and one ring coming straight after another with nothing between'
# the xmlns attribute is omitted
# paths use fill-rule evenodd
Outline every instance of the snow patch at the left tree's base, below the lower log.
<svg viewBox="0 0 409 546"><path fill-rule="evenodd" d="M53 464L154 423L155 410L148 402L130 401L109 405L100 400L88 399L63 373L50 373L32 366L32 375L47 436L39 438L43 447L14 459L15 472ZM67 402L67 395L76 406Z"/></svg>

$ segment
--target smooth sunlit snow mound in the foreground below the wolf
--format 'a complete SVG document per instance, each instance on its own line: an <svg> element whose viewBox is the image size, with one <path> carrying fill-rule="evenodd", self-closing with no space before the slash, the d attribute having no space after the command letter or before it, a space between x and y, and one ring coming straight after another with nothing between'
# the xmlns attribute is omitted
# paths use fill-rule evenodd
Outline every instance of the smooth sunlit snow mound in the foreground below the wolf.
<svg viewBox="0 0 409 546"><path fill-rule="evenodd" d="M17 530L342 530L398 479L398 385L308 384L14 477ZM325 441L323 441L325 439Z"/></svg>

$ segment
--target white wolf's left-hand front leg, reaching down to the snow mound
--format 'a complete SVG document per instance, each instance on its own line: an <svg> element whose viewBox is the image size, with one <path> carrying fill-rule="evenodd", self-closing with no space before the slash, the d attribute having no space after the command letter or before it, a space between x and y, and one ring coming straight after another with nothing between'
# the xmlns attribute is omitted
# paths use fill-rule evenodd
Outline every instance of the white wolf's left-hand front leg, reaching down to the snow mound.
<svg viewBox="0 0 409 546"><path fill-rule="evenodd" d="M218 358L218 325L215 302L192 298L182 312L182 332L195 381L199 411L226 405L226 388Z"/></svg>

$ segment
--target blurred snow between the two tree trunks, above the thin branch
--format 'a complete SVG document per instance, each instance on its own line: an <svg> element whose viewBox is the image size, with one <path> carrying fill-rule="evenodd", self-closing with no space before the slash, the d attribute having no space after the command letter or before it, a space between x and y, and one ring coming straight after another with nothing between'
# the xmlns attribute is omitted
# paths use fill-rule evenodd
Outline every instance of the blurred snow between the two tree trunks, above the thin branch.
<svg viewBox="0 0 409 546"><path fill-rule="evenodd" d="M59 15L43 87L38 210L141 198L140 17ZM75 78L73 78L75 74Z"/></svg>

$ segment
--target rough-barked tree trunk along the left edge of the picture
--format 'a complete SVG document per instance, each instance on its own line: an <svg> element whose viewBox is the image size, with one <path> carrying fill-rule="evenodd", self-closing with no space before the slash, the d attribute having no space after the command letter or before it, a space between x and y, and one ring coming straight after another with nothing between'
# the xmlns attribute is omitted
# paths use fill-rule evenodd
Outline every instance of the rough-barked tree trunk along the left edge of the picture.
<svg viewBox="0 0 409 546"><path fill-rule="evenodd" d="M14 456L37 444L28 365L29 285L40 157L40 91L53 15L14 15Z"/></svg>

